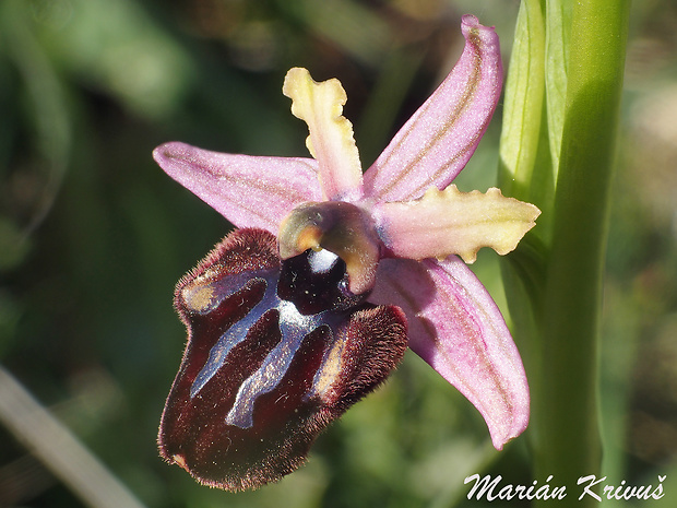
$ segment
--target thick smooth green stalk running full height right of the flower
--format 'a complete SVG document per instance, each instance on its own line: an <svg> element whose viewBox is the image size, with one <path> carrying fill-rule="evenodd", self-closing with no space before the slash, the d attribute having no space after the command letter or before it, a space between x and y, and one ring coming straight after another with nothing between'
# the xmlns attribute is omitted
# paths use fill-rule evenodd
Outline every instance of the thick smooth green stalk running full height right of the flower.
<svg viewBox="0 0 677 508"><path fill-rule="evenodd" d="M567 485L599 476L598 316L608 228L629 0L580 0L573 8L566 114L543 299L537 477ZM562 507L562 501L556 501Z"/></svg>

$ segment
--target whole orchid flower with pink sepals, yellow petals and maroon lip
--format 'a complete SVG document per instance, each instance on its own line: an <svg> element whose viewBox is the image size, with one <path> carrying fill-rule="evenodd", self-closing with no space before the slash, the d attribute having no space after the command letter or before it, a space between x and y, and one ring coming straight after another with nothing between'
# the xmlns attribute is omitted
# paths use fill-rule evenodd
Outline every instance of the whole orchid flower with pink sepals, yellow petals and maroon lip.
<svg viewBox="0 0 677 508"><path fill-rule="evenodd" d="M482 247L513 250L539 211L451 184L502 84L494 28L466 15L462 32L454 69L364 175L340 82L299 68L283 93L312 158L155 150L169 176L242 228L175 297L189 342L159 445L201 482L238 491L293 471L407 345L477 407L497 449L526 427L520 355L465 262Z"/></svg>

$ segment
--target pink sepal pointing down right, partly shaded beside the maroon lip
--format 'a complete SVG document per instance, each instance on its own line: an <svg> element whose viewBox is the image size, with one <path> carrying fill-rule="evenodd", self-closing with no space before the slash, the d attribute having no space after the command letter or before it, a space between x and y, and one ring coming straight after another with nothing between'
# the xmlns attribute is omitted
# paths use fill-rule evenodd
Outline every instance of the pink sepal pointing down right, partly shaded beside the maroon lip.
<svg viewBox="0 0 677 508"><path fill-rule="evenodd" d="M463 261L384 259L369 300L404 309L409 347L477 407L496 449L526 428L520 354L494 299Z"/></svg>

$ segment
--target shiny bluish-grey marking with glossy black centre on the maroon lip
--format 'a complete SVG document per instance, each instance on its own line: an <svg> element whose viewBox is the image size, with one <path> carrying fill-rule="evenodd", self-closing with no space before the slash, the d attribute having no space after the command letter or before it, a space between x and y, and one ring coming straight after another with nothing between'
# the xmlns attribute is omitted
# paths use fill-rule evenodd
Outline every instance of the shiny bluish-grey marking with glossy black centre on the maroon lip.
<svg viewBox="0 0 677 508"><path fill-rule="evenodd" d="M247 315L222 333L190 388L191 399L198 397L200 390L224 367L231 350L247 339L251 328L266 312L273 311L282 339L259 368L239 386L235 402L226 415L226 424L240 428L254 425L257 399L280 385L304 339L320 327L328 327L330 332L324 336L329 344L307 397L326 389L326 379L320 381L319 373L330 357L335 362L335 355L332 356L331 352L339 327L347 321L348 311L366 298L366 295L355 296L347 292L345 263L336 256L324 250L309 250L284 261L281 270L245 272L206 283L204 291L211 299L200 314L214 311L226 298L237 298L247 284L264 284L263 295ZM320 382L322 387L318 386Z"/></svg>

